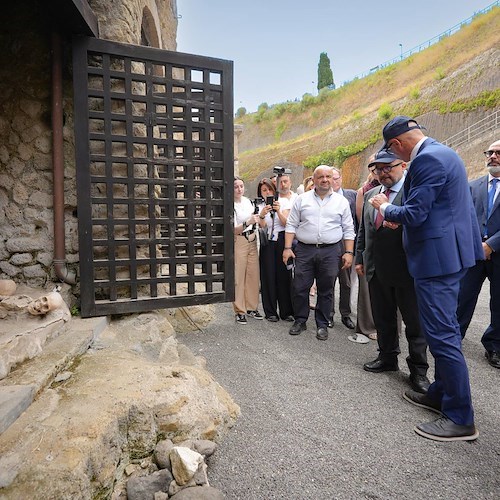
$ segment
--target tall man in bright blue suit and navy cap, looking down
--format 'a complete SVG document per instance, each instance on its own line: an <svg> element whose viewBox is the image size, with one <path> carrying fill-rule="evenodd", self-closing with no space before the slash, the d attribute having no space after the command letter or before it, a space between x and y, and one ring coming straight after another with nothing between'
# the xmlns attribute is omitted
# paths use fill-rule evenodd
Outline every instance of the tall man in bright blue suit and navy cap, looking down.
<svg viewBox="0 0 500 500"><path fill-rule="evenodd" d="M460 280L484 252L465 167L452 149L426 137L408 116L393 118L383 136L383 149L411 165L401 206L388 203L383 194L370 203L386 221L403 225L408 270L435 360L435 381L427 394L409 390L403 397L441 414L417 425L417 434L436 441L472 441L479 432L456 312Z"/></svg>

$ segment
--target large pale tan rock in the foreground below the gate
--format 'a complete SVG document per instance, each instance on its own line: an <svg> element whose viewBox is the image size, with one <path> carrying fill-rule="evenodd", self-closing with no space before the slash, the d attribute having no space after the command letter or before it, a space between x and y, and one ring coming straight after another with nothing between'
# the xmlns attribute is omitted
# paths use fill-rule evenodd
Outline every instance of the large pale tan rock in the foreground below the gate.
<svg viewBox="0 0 500 500"><path fill-rule="evenodd" d="M114 319L69 371L0 436L2 499L107 497L156 441L217 440L239 415L158 312Z"/></svg>

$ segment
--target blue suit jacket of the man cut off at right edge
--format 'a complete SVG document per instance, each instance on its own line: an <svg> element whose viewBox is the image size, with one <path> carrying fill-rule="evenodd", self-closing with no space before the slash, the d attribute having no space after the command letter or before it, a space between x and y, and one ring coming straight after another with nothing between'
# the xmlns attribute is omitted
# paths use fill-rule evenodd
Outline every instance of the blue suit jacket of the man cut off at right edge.
<svg viewBox="0 0 500 500"><path fill-rule="evenodd" d="M491 214L486 220L488 176L485 175L470 182L470 190L481 234L484 234L485 228L488 230L488 238L485 241L493 249L491 258L500 262L500 195L497 196Z"/></svg>

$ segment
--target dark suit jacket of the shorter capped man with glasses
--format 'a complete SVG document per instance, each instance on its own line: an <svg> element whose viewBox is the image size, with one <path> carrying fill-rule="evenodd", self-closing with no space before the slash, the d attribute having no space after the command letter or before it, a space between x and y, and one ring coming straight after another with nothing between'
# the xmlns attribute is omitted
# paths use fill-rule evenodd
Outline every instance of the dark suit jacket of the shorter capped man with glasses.
<svg viewBox="0 0 500 500"><path fill-rule="evenodd" d="M403 249L403 228L389 229L375 227L375 209L368 203L370 198L383 192L384 186L377 186L364 196L363 215L356 240L356 264L363 264L368 281L374 273L384 284L394 287L413 286L408 272L406 254ZM399 191L393 205L400 206L403 189Z"/></svg>

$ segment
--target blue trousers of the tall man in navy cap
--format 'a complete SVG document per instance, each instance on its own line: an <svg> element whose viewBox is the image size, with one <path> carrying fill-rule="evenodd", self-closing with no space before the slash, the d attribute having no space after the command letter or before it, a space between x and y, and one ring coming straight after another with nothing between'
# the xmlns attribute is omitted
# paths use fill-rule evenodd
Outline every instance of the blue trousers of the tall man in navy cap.
<svg viewBox="0 0 500 500"><path fill-rule="evenodd" d="M415 279L415 291L422 328L435 362L435 381L428 395L441 402L443 414L453 422L472 425L474 410L469 371L462 354L462 336L457 321L458 292L464 275L465 270Z"/></svg>

